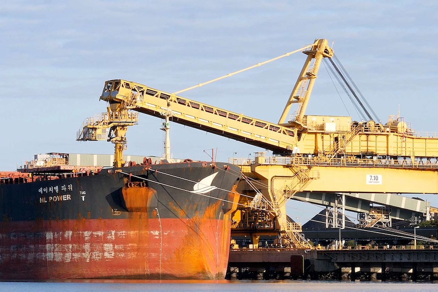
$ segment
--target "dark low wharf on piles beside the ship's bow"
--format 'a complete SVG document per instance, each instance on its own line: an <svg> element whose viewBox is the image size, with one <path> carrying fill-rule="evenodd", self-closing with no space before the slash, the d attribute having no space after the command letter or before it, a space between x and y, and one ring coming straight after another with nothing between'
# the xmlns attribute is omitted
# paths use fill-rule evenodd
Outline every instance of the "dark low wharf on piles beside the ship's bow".
<svg viewBox="0 0 438 292"><path fill-rule="evenodd" d="M231 249L227 278L436 281L438 246Z"/></svg>

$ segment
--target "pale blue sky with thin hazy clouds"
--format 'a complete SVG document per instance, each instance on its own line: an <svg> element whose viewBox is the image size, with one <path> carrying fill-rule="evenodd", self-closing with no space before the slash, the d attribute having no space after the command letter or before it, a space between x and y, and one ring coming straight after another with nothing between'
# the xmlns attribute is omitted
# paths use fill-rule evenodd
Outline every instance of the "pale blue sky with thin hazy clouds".
<svg viewBox="0 0 438 292"><path fill-rule="evenodd" d="M175 92L320 38L383 122L399 112L415 131L438 132L436 11L432 0L2 3L0 170L37 153L112 154L109 142L76 141L83 120L106 111L106 80ZM296 53L181 95L276 123L304 61ZM345 102L322 66L306 114L359 119ZM125 153L160 156L161 123L140 115ZM171 147L175 158L209 160L214 149L225 161L264 151L176 123Z"/></svg>

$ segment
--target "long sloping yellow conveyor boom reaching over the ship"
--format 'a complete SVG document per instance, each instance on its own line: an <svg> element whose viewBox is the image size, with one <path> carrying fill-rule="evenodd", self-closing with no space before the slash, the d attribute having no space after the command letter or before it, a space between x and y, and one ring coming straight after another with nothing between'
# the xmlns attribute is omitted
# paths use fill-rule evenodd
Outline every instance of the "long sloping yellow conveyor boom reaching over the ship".
<svg viewBox="0 0 438 292"><path fill-rule="evenodd" d="M276 151L291 150L295 144L295 133L289 127L212 107L135 82L110 80L105 84L101 100L123 103L138 112L162 117L162 113L170 108L174 122Z"/></svg>

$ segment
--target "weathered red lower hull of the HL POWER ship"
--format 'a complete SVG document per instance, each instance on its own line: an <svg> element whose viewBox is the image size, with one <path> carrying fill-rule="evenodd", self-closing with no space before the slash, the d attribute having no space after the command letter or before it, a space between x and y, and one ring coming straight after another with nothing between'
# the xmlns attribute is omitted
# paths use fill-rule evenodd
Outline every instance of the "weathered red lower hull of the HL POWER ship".
<svg viewBox="0 0 438 292"><path fill-rule="evenodd" d="M1 278L224 279L230 243L225 217L136 213L129 219L8 222L0 262L9 269ZM38 232L44 230L50 232Z"/></svg>

